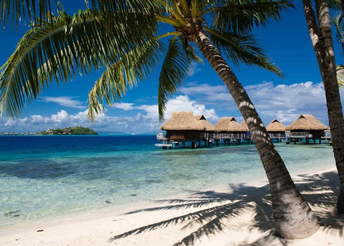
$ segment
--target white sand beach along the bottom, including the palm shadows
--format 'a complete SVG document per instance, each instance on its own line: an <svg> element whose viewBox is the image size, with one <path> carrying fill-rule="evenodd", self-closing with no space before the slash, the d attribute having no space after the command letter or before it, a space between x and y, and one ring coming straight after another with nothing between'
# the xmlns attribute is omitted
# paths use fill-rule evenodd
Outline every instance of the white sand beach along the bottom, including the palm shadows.
<svg viewBox="0 0 344 246"><path fill-rule="evenodd" d="M258 180L2 228L0 245L343 245L344 219L331 217L339 192L335 167L291 176L322 224L309 239L273 236L267 182Z"/></svg>

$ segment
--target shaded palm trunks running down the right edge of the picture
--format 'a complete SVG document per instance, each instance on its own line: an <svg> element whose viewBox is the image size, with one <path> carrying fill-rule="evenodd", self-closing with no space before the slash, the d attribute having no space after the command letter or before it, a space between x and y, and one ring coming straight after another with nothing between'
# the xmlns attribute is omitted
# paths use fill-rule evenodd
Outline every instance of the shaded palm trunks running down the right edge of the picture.
<svg viewBox="0 0 344 246"><path fill-rule="evenodd" d="M314 11L311 0L302 0L302 2L308 31L324 84L333 152L341 182L341 189L337 201L337 213L344 214L344 118L339 94L338 73L334 57L329 11L329 4L330 6L338 6L338 4L342 6L344 1L315 0L316 11Z"/></svg>

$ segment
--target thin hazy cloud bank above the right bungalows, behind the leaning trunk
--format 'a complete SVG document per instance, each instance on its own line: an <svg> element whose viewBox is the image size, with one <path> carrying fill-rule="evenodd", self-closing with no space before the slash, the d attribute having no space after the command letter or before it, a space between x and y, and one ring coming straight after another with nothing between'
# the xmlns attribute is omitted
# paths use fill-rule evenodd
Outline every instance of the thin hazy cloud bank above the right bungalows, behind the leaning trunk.
<svg viewBox="0 0 344 246"><path fill-rule="evenodd" d="M263 82L246 86L245 90L264 123L269 123L277 118L283 123L289 124L300 114L312 114L323 123L328 123L325 91L321 82L309 81L276 86L272 82ZM201 96L208 103L218 104L218 107L225 107L229 111L237 110L225 85L212 86L192 83L181 88L180 92L196 97ZM344 90L342 89L340 92L342 105L344 105ZM223 101L226 101L226 104L223 104Z"/></svg>

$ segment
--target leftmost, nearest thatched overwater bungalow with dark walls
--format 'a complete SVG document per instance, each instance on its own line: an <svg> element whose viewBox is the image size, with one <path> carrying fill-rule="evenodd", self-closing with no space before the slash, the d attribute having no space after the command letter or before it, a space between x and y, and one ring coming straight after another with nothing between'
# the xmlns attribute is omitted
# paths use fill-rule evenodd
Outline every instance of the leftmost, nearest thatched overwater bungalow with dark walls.
<svg viewBox="0 0 344 246"><path fill-rule="evenodd" d="M200 117L199 119L201 119ZM204 116L203 116L204 118ZM201 141L200 135L206 130L213 131L213 125L204 120L196 120L192 111L173 112L172 117L164 123L160 129L166 131L167 141L191 142L193 148L197 147L197 141Z"/></svg>

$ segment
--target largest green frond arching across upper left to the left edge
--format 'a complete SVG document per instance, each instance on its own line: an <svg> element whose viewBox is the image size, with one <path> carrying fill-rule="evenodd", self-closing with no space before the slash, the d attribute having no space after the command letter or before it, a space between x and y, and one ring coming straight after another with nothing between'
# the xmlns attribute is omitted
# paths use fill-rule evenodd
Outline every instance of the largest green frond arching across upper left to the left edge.
<svg viewBox="0 0 344 246"><path fill-rule="evenodd" d="M54 80L67 82L116 62L121 54L153 39L156 31L154 13L133 11L114 14L87 9L72 17L60 11L53 20L42 22L43 27L24 35L0 67L0 114L10 118L17 117L26 101L36 99Z"/></svg>

